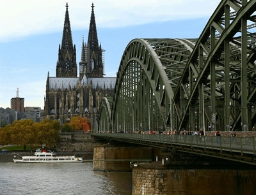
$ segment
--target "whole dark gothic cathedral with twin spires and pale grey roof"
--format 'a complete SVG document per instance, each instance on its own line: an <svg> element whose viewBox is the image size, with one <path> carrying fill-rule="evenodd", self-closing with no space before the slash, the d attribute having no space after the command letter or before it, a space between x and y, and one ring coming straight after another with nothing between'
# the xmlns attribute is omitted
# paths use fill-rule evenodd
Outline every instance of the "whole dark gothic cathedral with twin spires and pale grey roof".
<svg viewBox="0 0 256 195"><path fill-rule="evenodd" d="M63 36L58 50L56 77L47 75L44 98L44 115L58 119L61 124L80 115L92 122L97 130L97 119L102 98L111 102L115 89L115 77L104 77L104 50L98 42L94 5L88 32L88 41L81 46L79 75L77 76L76 45L73 45L68 3L66 4Z"/></svg>

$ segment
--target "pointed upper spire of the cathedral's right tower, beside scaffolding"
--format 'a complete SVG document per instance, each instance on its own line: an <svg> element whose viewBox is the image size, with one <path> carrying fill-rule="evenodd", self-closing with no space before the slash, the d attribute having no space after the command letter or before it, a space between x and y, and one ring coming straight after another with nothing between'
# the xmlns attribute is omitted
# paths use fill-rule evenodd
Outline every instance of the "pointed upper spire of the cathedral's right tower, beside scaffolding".
<svg viewBox="0 0 256 195"><path fill-rule="evenodd" d="M91 50L97 50L99 49L99 43L98 43L97 28L96 28L95 15L94 15L93 8L94 8L94 5L92 3L92 13L91 13L90 28L89 28L87 43Z"/></svg>

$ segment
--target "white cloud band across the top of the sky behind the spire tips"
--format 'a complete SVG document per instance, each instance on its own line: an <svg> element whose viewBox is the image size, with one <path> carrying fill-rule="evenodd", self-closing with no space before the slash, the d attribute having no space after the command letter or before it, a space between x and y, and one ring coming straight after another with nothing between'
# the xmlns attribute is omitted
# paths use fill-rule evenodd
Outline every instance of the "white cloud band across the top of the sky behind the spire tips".
<svg viewBox="0 0 256 195"><path fill-rule="evenodd" d="M12 41L33 34L60 31L67 1L1 0L1 41ZM117 28L131 25L211 16L220 3L211 1L93 1L97 27ZM72 30L84 29L90 22L92 1L68 1Z"/></svg>

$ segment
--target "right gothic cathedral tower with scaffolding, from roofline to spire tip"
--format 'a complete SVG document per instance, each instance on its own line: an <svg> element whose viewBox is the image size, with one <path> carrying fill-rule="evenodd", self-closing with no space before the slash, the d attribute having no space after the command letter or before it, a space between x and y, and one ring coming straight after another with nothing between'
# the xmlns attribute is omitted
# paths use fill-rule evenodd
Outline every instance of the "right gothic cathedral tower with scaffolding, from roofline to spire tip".
<svg viewBox="0 0 256 195"><path fill-rule="evenodd" d="M104 63L102 62L102 48L99 46L97 27L94 15L94 5L92 3L92 13L90 19L90 28L87 45L82 45L82 54L79 77L82 75L87 78L102 78L104 76Z"/></svg>

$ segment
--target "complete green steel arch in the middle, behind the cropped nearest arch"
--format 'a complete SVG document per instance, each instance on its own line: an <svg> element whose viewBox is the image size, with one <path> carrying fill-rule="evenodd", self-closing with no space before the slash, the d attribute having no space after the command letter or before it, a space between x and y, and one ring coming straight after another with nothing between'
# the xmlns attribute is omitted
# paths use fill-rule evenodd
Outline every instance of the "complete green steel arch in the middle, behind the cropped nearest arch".
<svg viewBox="0 0 256 195"><path fill-rule="evenodd" d="M135 39L125 48L113 98L114 131L166 130L172 97L196 40Z"/></svg>

